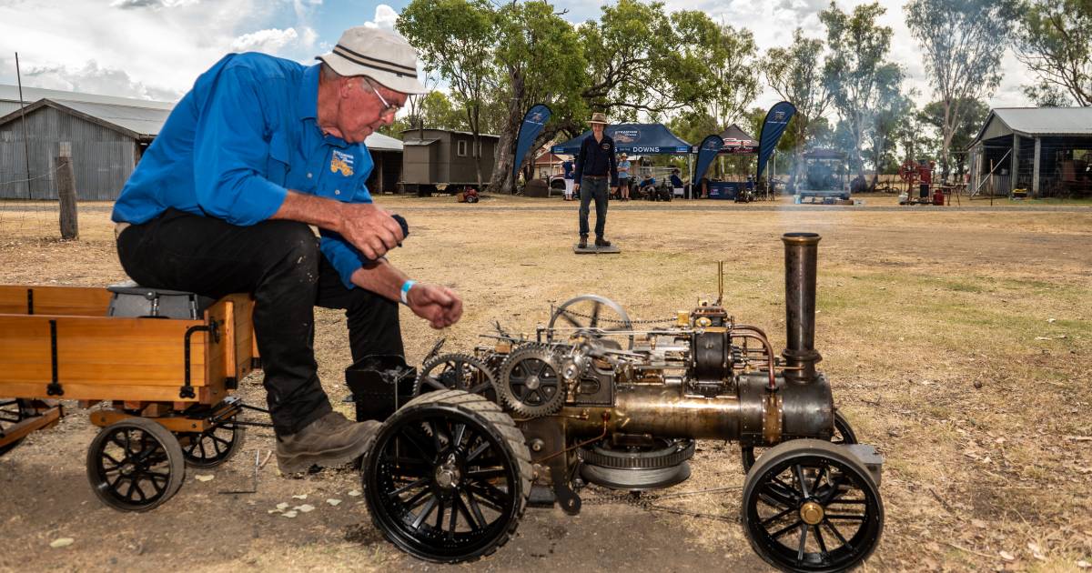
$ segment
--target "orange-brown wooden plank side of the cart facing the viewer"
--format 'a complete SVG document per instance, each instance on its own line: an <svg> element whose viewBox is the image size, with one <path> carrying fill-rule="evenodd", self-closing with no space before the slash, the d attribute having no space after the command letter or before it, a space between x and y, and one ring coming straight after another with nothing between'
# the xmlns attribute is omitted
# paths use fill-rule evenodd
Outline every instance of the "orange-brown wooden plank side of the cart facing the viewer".
<svg viewBox="0 0 1092 573"><path fill-rule="evenodd" d="M202 321L0 315L0 387L51 381L49 321L57 321L58 382L179 387L185 334ZM190 338L191 384L205 384L205 334ZM0 395L5 395L0 391ZM70 397L66 391L66 398ZM136 398L147 399L147 398Z"/></svg>

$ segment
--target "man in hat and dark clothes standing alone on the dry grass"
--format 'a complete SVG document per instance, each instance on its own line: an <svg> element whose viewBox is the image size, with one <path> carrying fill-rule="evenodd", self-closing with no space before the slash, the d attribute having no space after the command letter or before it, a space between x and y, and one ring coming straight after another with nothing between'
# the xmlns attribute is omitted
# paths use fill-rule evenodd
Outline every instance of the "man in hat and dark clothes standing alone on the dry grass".
<svg viewBox="0 0 1092 573"><path fill-rule="evenodd" d="M587 213L595 200L595 246L610 247L603 238L607 224L607 182L618 190L618 160L615 144L603 131L609 121L605 114L592 114L592 134L584 138L577 154L577 172L573 189L580 192L580 249L587 248Z"/></svg>

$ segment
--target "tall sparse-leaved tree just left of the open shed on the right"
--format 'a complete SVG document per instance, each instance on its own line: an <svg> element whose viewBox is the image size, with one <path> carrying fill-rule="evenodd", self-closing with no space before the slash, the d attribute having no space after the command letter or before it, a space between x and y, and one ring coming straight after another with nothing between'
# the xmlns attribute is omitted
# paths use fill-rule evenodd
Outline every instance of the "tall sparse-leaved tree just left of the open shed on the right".
<svg viewBox="0 0 1092 573"><path fill-rule="evenodd" d="M1008 44L1016 8L1012 0L913 0L904 9L943 108L943 178L951 172L952 138L968 114L963 104L988 98L1000 84L1002 47Z"/></svg>

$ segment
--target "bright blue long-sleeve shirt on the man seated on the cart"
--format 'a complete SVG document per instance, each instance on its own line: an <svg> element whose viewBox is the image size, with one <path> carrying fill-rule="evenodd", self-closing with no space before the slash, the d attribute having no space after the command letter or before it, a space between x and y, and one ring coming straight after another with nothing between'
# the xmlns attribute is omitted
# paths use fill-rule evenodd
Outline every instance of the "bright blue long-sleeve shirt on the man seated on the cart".
<svg viewBox="0 0 1092 573"><path fill-rule="evenodd" d="M371 203L368 148L319 129L319 72L262 53L224 57L175 106L111 218L139 225L174 207L254 225L281 208L288 189ZM322 254L353 288L367 259L337 234L320 235Z"/></svg>

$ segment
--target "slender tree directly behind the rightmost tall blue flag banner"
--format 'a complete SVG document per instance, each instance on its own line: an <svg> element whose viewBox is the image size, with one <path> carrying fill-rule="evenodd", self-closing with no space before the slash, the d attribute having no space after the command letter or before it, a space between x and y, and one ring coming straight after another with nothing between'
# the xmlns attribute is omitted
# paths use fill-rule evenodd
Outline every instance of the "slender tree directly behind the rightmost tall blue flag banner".
<svg viewBox="0 0 1092 573"><path fill-rule="evenodd" d="M786 130L792 135L792 165L790 184L795 183L804 164L799 154L807 150L812 124L822 118L830 106L823 67L823 44L804 37L804 32L793 32L793 43L787 48L771 48L765 52L762 68L770 87L786 102L796 106L796 115ZM756 133L757 138L758 134Z"/></svg>

